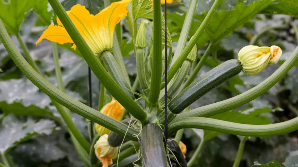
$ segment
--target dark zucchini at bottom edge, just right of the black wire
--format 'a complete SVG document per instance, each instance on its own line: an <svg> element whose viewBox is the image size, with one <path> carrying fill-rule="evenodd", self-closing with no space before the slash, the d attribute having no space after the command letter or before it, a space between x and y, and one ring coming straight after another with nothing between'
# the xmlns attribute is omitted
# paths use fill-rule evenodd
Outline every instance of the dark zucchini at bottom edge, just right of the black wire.
<svg viewBox="0 0 298 167"><path fill-rule="evenodd" d="M187 162L181 152L179 144L175 140L171 140L171 139L167 139L167 142L168 142L168 147L174 153L174 155L178 160L178 162L175 162L175 163L180 163L182 167L187 167ZM176 165L176 166L179 166L179 165Z"/></svg>

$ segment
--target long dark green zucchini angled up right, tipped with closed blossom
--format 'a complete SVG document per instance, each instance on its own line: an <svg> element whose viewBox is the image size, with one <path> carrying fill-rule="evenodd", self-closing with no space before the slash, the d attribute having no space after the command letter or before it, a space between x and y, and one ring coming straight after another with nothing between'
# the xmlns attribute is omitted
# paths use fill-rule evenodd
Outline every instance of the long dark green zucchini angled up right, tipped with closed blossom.
<svg viewBox="0 0 298 167"><path fill-rule="evenodd" d="M187 86L169 103L169 109L174 114L179 114L187 106L198 100L224 81L239 74L242 70L241 63L236 60L228 60L207 72L204 76Z"/></svg>

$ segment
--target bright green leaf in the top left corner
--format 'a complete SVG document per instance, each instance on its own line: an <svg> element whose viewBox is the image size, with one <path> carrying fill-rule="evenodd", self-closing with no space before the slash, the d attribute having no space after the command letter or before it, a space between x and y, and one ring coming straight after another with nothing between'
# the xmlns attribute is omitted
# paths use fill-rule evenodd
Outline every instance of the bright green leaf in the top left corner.
<svg viewBox="0 0 298 167"><path fill-rule="evenodd" d="M20 26L32 6L31 0L1 0L0 18L5 28L12 34L18 34Z"/></svg>

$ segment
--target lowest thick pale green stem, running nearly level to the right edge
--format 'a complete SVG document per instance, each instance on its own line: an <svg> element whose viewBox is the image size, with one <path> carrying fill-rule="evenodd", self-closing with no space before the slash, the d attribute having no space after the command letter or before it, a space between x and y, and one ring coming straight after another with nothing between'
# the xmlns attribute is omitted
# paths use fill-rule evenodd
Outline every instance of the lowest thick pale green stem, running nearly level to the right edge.
<svg viewBox="0 0 298 167"><path fill-rule="evenodd" d="M247 125L212 118L187 117L171 122L168 128L169 136L175 133L177 130L183 128L212 130L240 136L277 136L297 130L298 117L285 122L270 125Z"/></svg>

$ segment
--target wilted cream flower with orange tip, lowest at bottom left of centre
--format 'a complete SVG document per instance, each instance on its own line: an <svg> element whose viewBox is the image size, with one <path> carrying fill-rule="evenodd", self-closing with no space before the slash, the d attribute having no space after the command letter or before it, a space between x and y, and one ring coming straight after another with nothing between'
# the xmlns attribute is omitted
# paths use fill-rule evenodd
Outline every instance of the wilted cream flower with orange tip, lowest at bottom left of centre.
<svg viewBox="0 0 298 167"><path fill-rule="evenodd" d="M108 143L108 135L100 136L94 145L95 155L103 163L103 167L108 167L113 164L113 159L116 158L118 147L112 147Z"/></svg>

